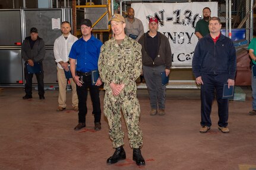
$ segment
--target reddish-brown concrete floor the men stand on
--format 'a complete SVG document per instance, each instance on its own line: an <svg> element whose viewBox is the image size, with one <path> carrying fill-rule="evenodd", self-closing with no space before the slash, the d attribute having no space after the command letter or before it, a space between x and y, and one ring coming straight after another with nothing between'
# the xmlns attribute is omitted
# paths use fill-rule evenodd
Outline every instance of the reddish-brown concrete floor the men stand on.
<svg viewBox="0 0 256 170"><path fill-rule="evenodd" d="M199 133L199 90L167 90L165 116L150 116L147 90L138 90L146 160L139 167L132 161L124 121L127 159L106 165L114 152L108 123L102 115L102 130L93 130L90 100L87 127L74 131L78 116L71 110L70 91L67 110L56 112L58 90L46 91L46 100L39 100L37 91L23 100L23 88L1 88L0 169L256 169L256 116L248 115L251 89L243 89L246 101L229 103L229 134L217 129L216 101L211 130ZM102 104L103 97L100 91Z"/></svg>

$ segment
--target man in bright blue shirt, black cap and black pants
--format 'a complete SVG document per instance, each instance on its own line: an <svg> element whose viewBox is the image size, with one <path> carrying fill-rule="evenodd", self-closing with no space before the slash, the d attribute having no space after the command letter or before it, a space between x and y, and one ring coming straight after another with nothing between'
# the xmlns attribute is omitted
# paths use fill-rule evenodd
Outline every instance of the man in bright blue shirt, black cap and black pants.
<svg viewBox="0 0 256 170"><path fill-rule="evenodd" d="M91 36L91 21L83 19L81 21L81 39L75 41L69 53L70 70L72 78L77 84L78 95L78 124L74 130L86 127L87 114L87 89L90 89L91 101L93 102L94 129L100 130L100 98L99 86L102 85L101 79L97 79L96 84L91 84L91 71L98 70L98 59L102 42ZM75 66L77 62L77 66Z"/></svg>

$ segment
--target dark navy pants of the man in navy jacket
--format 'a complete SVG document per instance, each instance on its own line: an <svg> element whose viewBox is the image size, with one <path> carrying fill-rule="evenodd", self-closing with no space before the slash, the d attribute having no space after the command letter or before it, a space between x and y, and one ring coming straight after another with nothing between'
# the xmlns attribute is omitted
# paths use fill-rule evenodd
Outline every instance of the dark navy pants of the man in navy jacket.
<svg viewBox="0 0 256 170"><path fill-rule="evenodd" d="M227 84L228 74L207 75L202 74L203 85L201 85L201 126L211 126L211 105L216 90L219 121L221 127L227 126L229 118L229 100L222 99L223 85Z"/></svg>

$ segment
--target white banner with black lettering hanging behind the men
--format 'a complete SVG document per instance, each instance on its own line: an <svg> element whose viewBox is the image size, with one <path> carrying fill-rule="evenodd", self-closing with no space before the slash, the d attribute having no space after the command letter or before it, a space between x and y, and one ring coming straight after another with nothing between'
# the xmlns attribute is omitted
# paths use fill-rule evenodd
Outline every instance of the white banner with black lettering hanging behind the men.
<svg viewBox="0 0 256 170"><path fill-rule="evenodd" d="M203 8L211 9L211 17L217 17L217 2L186 2L186 3L135 3L131 5L135 17L139 18L148 31L151 17L159 20L159 32L169 39L172 49L172 66L191 67L192 56L197 45L195 24L200 20Z"/></svg>

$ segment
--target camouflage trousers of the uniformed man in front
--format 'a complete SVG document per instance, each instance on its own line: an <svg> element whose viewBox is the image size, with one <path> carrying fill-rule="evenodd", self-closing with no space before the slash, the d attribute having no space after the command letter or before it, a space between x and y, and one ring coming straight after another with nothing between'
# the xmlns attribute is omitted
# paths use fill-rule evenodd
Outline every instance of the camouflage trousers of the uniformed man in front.
<svg viewBox="0 0 256 170"><path fill-rule="evenodd" d="M143 134L139 127L140 104L136 90L126 91L128 88L129 86L126 86L118 96L113 96L110 87L106 88L105 86L104 114L108 118L109 136L113 141L114 148L124 145L121 109L127 124L129 145L132 148L140 148L143 145Z"/></svg>

